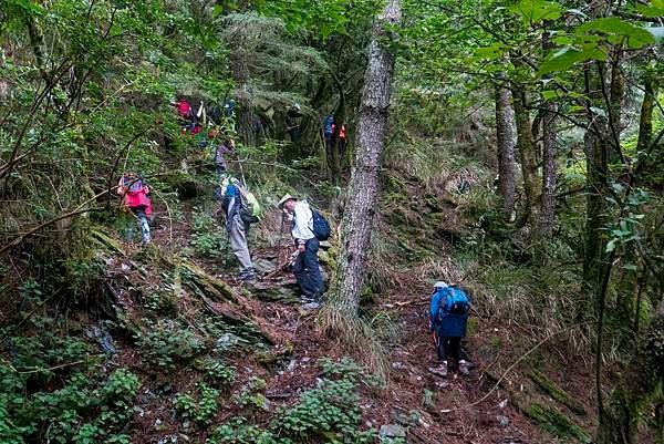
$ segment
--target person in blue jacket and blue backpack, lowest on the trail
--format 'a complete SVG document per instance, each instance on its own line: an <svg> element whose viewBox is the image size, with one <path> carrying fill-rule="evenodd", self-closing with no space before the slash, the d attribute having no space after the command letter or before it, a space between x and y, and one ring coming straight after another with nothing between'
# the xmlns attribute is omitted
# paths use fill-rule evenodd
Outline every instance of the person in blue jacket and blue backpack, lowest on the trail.
<svg viewBox="0 0 664 444"><path fill-rule="evenodd" d="M438 366L429 368L429 372L447 376L447 359L458 363L458 372L467 376L469 362L461 350L461 338L466 335L466 323L470 311L468 296L459 288L438 281L434 285L429 308L429 330L436 343Z"/></svg>

